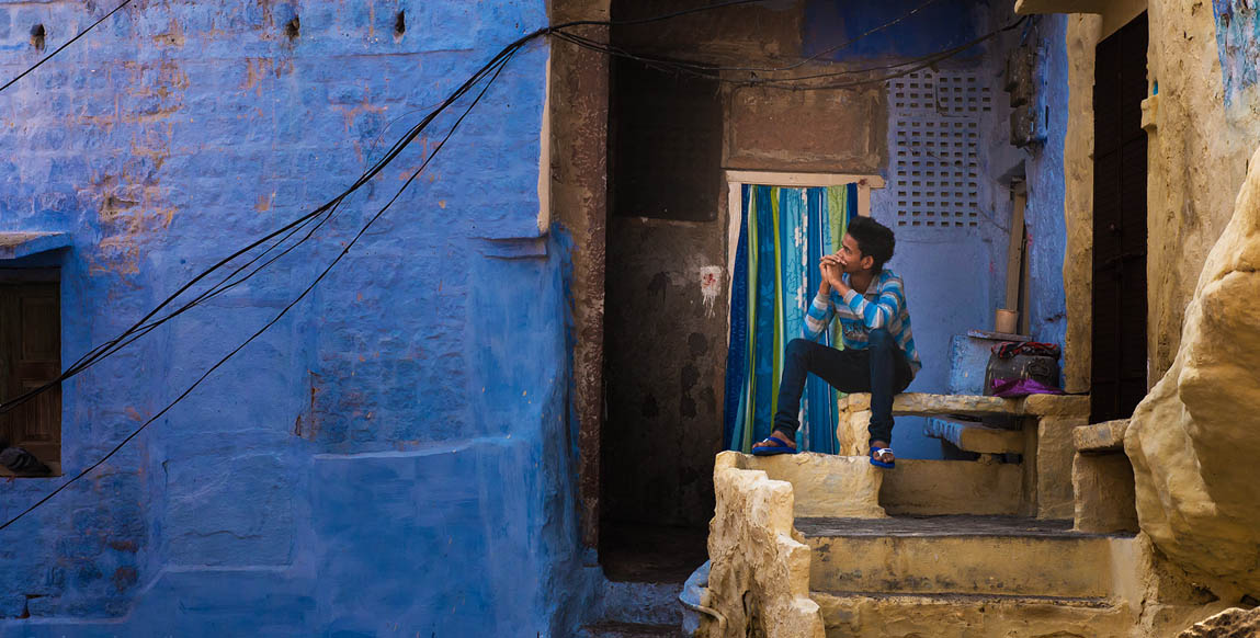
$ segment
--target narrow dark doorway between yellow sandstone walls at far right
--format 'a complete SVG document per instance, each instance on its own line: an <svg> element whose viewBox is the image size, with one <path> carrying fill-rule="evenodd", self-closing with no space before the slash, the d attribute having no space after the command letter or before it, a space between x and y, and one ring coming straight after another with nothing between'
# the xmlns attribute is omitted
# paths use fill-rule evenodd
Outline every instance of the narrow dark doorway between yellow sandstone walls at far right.
<svg viewBox="0 0 1260 638"><path fill-rule="evenodd" d="M1147 394L1147 14L1099 43L1094 76L1094 311L1090 420Z"/></svg>

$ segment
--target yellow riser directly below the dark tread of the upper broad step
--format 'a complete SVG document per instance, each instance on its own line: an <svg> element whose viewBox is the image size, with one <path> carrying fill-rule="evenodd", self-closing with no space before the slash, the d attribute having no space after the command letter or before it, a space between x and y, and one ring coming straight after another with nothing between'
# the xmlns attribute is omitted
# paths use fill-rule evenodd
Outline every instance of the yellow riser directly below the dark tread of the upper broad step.
<svg viewBox="0 0 1260 638"><path fill-rule="evenodd" d="M810 537L810 589L1091 598L1111 589L1108 539Z"/></svg>

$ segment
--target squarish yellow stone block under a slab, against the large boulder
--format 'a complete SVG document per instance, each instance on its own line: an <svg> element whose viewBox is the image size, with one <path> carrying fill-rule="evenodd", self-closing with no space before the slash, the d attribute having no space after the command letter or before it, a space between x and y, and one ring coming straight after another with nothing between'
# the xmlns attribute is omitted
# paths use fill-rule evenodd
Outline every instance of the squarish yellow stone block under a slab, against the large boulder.
<svg viewBox="0 0 1260 638"><path fill-rule="evenodd" d="M1080 454L1072 462L1075 529L1137 531L1133 466L1124 454Z"/></svg>

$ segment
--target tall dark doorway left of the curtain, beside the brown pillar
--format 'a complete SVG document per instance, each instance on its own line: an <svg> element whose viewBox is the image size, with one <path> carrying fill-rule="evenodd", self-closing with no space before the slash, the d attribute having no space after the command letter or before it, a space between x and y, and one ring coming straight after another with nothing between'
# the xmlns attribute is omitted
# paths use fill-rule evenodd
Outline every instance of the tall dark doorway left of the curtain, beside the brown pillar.
<svg viewBox="0 0 1260 638"><path fill-rule="evenodd" d="M635 60L610 74L600 562L680 583L707 557L722 437L724 299L699 288L726 263L722 99Z"/></svg>

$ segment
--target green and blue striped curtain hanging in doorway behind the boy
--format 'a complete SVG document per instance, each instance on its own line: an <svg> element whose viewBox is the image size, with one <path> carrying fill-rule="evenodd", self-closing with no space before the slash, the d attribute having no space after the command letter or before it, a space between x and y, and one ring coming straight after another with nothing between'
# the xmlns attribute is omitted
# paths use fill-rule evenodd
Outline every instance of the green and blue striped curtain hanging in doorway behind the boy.
<svg viewBox="0 0 1260 638"><path fill-rule="evenodd" d="M805 311L818 292L818 262L834 253L850 215L857 184L793 189L743 185L740 245L731 289L731 342L726 366L727 449L750 452L770 435L788 342L805 336ZM839 347L832 331L823 339ZM835 454L835 390L810 375L801 400L798 449Z"/></svg>

